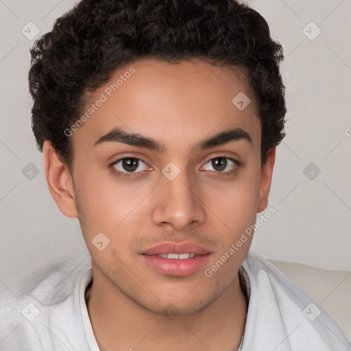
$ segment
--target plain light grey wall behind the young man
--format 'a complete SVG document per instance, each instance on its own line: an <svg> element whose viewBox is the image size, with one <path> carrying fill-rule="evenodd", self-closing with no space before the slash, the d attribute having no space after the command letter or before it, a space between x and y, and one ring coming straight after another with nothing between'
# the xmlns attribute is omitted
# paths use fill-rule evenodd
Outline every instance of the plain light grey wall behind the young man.
<svg viewBox="0 0 351 351"><path fill-rule="evenodd" d="M27 72L33 40L21 32L24 27L27 36L34 34L27 25L33 22L40 36L74 3L0 0L0 282L8 289L16 290L29 271L67 260L69 274L89 260L77 219L64 217L47 189L43 155L30 127ZM289 120L271 186L269 206L276 214L256 232L252 250L275 260L350 271L351 1L249 3L285 49ZM314 38L318 28L322 32ZM30 163L37 175L27 173L34 169Z"/></svg>

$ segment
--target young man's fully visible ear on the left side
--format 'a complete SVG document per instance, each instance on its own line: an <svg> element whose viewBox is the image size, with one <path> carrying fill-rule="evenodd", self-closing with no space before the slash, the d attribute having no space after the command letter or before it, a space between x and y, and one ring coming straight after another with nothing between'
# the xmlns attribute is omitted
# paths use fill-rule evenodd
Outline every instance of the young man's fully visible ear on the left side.
<svg viewBox="0 0 351 351"><path fill-rule="evenodd" d="M75 207L73 180L68 167L58 158L49 141L44 142L43 154L45 177L51 196L65 216L78 217L77 208Z"/></svg>

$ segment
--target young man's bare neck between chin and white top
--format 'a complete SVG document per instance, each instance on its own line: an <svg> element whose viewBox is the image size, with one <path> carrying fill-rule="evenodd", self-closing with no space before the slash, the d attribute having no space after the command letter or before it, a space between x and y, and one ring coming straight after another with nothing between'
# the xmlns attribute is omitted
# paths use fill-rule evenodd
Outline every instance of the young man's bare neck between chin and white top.
<svg viewBox="0 0 351 351"><path fill-rule="evenodd" d="M85 293L95 339L101 351L180 349L235 351L246 319L239 276L204 310L165 316L136 304L116 289L106 289L98 274ZM104 289L99 289L104 287Z"/></svg>

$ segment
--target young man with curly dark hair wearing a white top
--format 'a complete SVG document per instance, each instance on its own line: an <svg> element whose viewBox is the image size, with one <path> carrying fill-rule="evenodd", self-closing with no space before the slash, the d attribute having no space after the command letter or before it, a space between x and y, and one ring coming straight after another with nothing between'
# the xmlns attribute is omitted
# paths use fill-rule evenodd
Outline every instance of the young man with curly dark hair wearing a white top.
<svg viewBox="0 0 351 351"><path fill-rule="evenodd" d="M280 60L234 0L83 0L56 21L32 49L32 127L91 267L3 306L1 350L350 350L248 253L274 213Z"/></svg>

